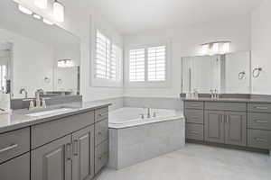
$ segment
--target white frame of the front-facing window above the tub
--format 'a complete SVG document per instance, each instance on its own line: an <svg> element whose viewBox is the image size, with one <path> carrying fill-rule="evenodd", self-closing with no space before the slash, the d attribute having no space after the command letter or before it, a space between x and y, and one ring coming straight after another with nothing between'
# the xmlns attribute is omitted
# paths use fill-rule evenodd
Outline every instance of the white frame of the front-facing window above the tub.
<svg viewBox="0 0 271 180"><path fill-rule="evenodd" d="M148 81L148 48L165 46L166 56L165 56L165 80L164 81ZM130 81L130 58L129 52L133 49L145 49L145 81ZM140 44L140 45L127 45L125 49L125 86L127 88L165 88L171 84L171 41L161 41L156 43L149 44Z"/></svg>

